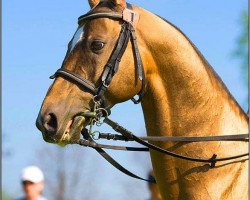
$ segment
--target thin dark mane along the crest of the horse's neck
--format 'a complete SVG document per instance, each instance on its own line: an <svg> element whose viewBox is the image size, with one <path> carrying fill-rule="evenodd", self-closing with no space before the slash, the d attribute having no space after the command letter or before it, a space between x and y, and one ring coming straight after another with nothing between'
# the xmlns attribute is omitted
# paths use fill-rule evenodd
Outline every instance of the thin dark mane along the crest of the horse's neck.
<svg viewBox="0 0 250 200"><path fill-rule="evenodd" d="M231 105L236 106L240 113L246 120L249 119L248 115L245 113L245 111L241 108L241 106L239 105L239 103L236 101L236 99L234 98L234 96L230 93L230 91L228 90L227 86L225 85L225 83L222 81L222 79L220 78L220 76L218 75L218 73L214 70L214 68L209 64L209 62L206 60L206 58L202 55L202 53L200 52L200 50L195 46L195 44L188 38L188 36L182 32L182 30L180 30L180 28L178 28L176 25L174 25L173 23L169 22L168 20L166 20L165 18L155 14L157 17L159 17L160 19L162 19L164 22L170 24L173 28L175 28L179 33L181 33L186 40L191 44L191 46L193 47L193 49L195 50L195 52L197 53L197 55L199 56L199 58L201 59L202 63L204 64L204 66L206 67L206 70L211 73L212 75L214 75L214 77L217 79L218 81L218 85L219 87L221 87L222 89L224 89L225 93L228 95L228 98L231 102Z"/></svg>

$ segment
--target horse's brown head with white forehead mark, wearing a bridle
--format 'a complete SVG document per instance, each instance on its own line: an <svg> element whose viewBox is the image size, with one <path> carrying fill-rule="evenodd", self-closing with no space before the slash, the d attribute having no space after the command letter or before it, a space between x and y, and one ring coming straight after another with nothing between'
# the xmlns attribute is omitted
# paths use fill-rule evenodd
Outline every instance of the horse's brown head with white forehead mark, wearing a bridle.
<svg viewBox="0 0 250 200"><path fill-rule="evenodd" d="M89 4L92 9L79 18L37 118L47 142L68 144L79 139L89 123L81 113L93 111L97 101L103 110L111 108L140 93L142 87L131 42L134 27L124 21L125 0L89 0Z"/></svg>

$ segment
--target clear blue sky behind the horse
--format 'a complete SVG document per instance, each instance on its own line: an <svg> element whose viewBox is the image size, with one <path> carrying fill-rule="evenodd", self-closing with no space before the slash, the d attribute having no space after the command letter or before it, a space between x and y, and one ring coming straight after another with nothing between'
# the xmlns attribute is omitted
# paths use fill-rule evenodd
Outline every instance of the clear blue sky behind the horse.
<svg viewBox="0 0 250 200"><path fill-rule="evenodd" d="M130 1L177 25L199 48L246 110L247 88L240 74L240 62L231 54L240 34L240 14L247 9L247 0L155 2ZM3 148L12 151L10 157L3 158L2 184L9 193L20 195L21 169L34 162L38 149L48 145L35 127L40 105L51 84L48 77L60 67L68 41L76 30L77 17L88 11L89 6L87 1L79 0L3 0L2 6L2 132L6 135ZM145 133L140 106L130 102L120 104L114 108L111 118L134 132ZM91 152L90 155L98 157ZM132 171L146 176L147 167L141 169L138 163L133 164L130 155L114 155ZM122 176L123 181L140 185L140 191L146 191L145 183L123 177L104 161L100 163L111 177ZM103 187L111 189L105 183ZM106 195L107 199L112 197ZM145 193L145 198L147 195Z"/></svg>

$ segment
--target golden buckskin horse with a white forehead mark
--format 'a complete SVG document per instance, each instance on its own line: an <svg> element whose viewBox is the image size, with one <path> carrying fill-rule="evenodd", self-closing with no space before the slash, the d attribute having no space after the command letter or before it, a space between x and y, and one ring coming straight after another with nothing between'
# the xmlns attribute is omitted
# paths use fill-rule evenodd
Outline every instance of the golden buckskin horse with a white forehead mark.
<svg viewBox="0 0 250 200"><path fill-rule="evenodd" d="M125 0L89 0L89 4L90 13L125 13L127 8ZM112 81L105 74L108 67L104 66L120 45L116 42L124 35L121 33L123 21L108 14L101 17L93 14L80 21L62 63L64 71L53 77L55 81L37 117L36 125L44 140L70 144L80 138L81 130L89 124L88 117L79 117L79 113L91 111L99 99L104 99L103 107L112 108L133 99L136 94L139 94L148 136L248 133L247 115L188 37L159 16L137 6L131 8L136 14L129 27L130 31L134 28L136 38L127 39L127 45L121 47L121 57L116 60L119 68L115 65L112 69L115 74ZM133 42L135 39L138 48ZM143 68L135 67L138 63L143 64ZM82 88L75 84L76 78L69 81L64 72L83 77L82 82L87 86ZM104 74L108 84L102 82ZM91 91L98 85L102 91L96 100ZM152 144L198 158L211 157L215 152L226 157L248 151L248 144L240 141L152 141ZM154 150L150 150L150 156L165 200L247 199L247 159L222 161L211 168L208 164L170 157Z"/></svg>

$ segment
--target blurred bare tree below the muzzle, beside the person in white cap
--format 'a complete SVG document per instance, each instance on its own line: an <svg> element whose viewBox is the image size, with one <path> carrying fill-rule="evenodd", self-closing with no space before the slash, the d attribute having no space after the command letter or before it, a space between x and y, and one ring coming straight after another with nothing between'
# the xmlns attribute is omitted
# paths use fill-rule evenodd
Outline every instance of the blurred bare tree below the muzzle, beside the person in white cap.
<svg viewBox="0 0 250 200"><path fill-rule="evenodd" d="M101 199L92 185L98 176L97 166L93 165L93 158L90 162L91 158L83 152L70 146L62 148L46 144L37 153L38 166L45 173L45 197L53 200L92 200L94 194L96 199ZM86 167L88 163L93 166Z"/></svg>

